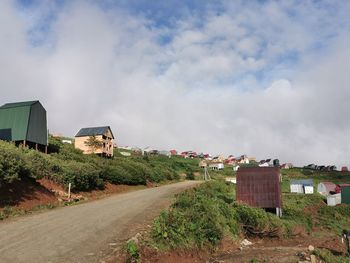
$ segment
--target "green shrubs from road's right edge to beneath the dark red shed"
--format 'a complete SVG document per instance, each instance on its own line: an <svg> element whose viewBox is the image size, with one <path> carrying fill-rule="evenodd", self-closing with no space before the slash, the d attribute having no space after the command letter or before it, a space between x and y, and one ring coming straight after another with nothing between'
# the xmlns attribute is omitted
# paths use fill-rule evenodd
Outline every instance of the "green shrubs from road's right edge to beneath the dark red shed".
<svg viewBox="0 0 350 263"><path fill-rule="evenodd" d="M167 248L214 247L225 235L284 234L283 221L263 209L234 202L234 186L210 181L179 194L169 211L155 220L152 238Z"/></svg>

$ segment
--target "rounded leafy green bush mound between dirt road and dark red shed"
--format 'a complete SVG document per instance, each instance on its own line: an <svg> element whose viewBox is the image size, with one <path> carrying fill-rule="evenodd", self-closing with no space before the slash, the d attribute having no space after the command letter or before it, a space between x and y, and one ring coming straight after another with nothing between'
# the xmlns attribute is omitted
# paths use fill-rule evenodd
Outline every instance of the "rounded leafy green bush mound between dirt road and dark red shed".
<svg viewBox="0 0 350 263"><path fill-rule="evenodd" d="M160 247L213 247L225 234L238 234L235 210L206 195L207 185L179 194L172 208L155 220L152 237Z"/></svg>

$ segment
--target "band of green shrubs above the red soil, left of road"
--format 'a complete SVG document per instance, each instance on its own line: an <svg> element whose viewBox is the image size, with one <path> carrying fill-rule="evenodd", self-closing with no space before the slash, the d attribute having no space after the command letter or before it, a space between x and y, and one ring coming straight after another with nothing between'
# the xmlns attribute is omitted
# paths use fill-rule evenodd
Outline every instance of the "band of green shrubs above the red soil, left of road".
<svg viewBox="0 0 350 263"><path fill-rule="evenodd" d="M0 141L0 186L20 180L48 178L59 184L72 184L73 191L101 189L106 182L145 185L178 180L188 169L198 171L198 160L165 156L124 157L116 151L112 159L84 155L73 145L49 139L50 154Z"/></svg>

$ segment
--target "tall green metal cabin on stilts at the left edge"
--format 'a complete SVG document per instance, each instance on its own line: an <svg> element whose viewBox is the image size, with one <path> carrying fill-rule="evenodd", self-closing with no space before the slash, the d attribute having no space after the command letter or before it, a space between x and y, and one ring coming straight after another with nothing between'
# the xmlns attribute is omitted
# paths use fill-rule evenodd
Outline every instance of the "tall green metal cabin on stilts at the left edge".
<svg viewBox="0 0 350 263"><path fill-rule="evenodd" d="M30 147L45 147L48 132L46 110L41 103L25 101L7 103L0 107L0 140L23 143Z"/></svg>

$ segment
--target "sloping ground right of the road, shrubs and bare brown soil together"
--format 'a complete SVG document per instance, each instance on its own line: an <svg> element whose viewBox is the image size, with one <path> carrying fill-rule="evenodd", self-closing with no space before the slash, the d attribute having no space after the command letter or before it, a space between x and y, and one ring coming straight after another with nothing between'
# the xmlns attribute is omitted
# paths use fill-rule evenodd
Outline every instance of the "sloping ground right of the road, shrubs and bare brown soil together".
<svg viewBox="0 0 350 263"><path fill-rule="evenodd" d="M295 168L282 176L281 218L237 203L234 184L212 180L179 194L138 240L136 256L142 262L298 262L314 254L323 262L349 262L341 237L350 229L350 205L330 207L316 191L289 190L294 178L312 178L317 187L321 180L350 182L349 173ZM252 244L242 245L244 239Z"/></svg>

